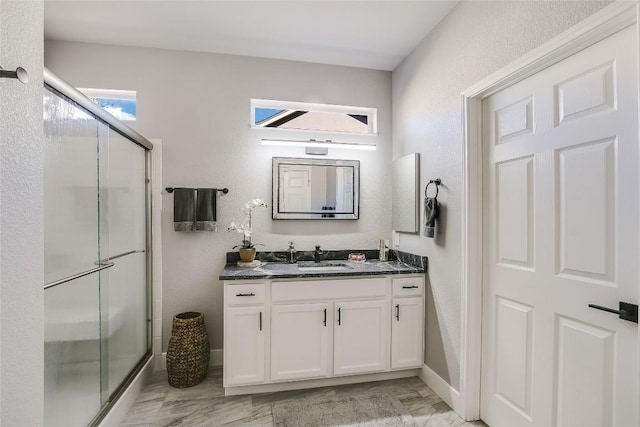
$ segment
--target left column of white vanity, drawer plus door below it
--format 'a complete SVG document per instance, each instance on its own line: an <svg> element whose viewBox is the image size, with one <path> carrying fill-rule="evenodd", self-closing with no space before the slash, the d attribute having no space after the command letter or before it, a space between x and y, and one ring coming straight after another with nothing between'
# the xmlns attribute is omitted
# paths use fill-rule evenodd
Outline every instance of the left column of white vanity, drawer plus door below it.
<svg viewBox="0 0 640 427"><path fill-rule="evenodd" d="M264 283L225 286L225 387L265 381L267 325L264 296Z"/></svg>

